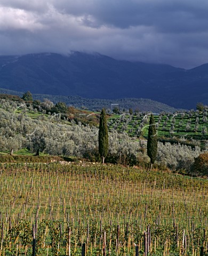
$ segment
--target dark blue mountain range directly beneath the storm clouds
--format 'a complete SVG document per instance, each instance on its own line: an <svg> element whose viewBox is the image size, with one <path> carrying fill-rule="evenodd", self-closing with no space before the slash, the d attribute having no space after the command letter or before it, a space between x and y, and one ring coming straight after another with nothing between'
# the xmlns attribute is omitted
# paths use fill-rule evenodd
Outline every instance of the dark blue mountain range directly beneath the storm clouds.
<svg viewBox="0 0 208 256"><path fill-rule="evenodd" d="M19 92L146 98L190 109L197 102L208 104L207 83L208 64L186 70L80 52L0 57L0 87Z"/></svg>

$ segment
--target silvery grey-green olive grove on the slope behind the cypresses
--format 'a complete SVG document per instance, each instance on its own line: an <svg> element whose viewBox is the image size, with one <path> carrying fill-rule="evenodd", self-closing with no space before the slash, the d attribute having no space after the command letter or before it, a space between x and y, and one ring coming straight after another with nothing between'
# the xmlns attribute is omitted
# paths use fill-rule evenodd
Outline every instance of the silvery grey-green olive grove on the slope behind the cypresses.
<svg viewBox="0 0 208 256"><path fill-rule="evenodd" d="M49 103L44 102L47 106ZM7 150L12 154L15 150L28 148L34 154L43 151L50 155L89 157L92 161L98 161L98 127L76 123L73 119L67 121L56 113L35 116L40 108L32 105L5 99L0 100L0 105L1 151ZM148 163L146 143L145 140L129 137L125 132L111 130L106 161L129 165ZM180 143L158 142L156 164L189 172L195 158L202 153L198 146L191 148Z"/></svg>

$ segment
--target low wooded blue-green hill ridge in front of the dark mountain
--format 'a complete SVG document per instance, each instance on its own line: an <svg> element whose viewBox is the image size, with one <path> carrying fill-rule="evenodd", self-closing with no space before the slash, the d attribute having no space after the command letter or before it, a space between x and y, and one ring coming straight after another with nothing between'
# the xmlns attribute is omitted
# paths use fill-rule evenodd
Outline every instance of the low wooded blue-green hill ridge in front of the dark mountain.
<svg viewBox="0 0 208 256"><path fill-rule="evenodd" d="M0 94L12 94L22 97L22 92L15 92L7 89L0 88ZM1 95L0 95L1 97ZM79 96L64 96L64 95L49 95L49 94L33 94L34 100L49 99L53 103L65 102L68 106L74 106L76 108L84 108L89 110L101 110L102 108L111 109L111 104L118 104L120 110L133 110L139 111L152 111L153 113L160 113L162 111L175 112L179 109L170 107L164 103L157 102L150 99L88 99Z"/></svg>

